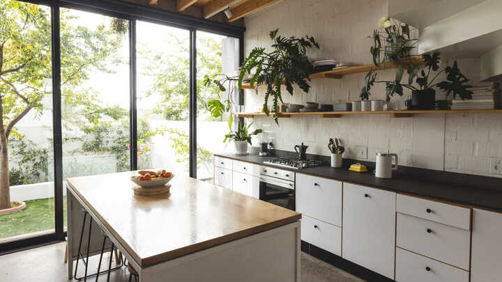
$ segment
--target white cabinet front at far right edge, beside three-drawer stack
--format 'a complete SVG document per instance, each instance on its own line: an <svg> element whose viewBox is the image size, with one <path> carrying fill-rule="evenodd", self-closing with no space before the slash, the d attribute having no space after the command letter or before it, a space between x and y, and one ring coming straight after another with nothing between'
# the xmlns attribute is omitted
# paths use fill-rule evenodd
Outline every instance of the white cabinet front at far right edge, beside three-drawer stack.
<svg viewBox="0 0 502 282"><path fill-rule="evenodd" d="M471 282L501 281L502 214L473 209Z"/></svg>

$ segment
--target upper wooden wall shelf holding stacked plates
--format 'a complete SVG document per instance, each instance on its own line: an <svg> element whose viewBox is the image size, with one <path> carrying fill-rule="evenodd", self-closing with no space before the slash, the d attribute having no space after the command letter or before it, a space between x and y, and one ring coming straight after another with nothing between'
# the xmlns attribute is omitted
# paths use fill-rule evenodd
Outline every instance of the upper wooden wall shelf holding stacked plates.
<svg viewBox="0 0 502 282"><path fill-rule="evenodd" d="M407 61L403 61L404 65L423 65L424 61L420 57L412 57ZM374 64L370 65L355 65L353 67L339 68L337 70L327 70L326 72L316 72L310 75L310 79L320 79L320 78L330 78L330 79L341 79L344 75L353 75L360 72L369 72L370 70L383 70L383 69L393 69L397 68L397 63L387 62L385 68L383 65L377 67ZM284 81L282 81L284 84ZM243 89L254 89L250 84L243 84Z"/></svg>

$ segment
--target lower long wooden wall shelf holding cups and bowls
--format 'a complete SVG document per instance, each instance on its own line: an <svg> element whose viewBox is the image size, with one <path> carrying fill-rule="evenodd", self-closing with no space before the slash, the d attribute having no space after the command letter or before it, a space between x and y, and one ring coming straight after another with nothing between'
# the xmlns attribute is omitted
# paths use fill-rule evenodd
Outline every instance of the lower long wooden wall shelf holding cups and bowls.
<svg viewBox="0 0 502 282"><path fill-rule="evenodd" d="M435 110L435 111L307 111L296 113L279 113L279 118L291 118L291 116L320 116L321 118L341 118L348 115L362 114L388 114L393 118L410 118L420 113L502 113L502 109L485 110ZM239 118L253 118L266 116L265 113L237 113ZM275 116L271 113L270 116Z"/></svg>

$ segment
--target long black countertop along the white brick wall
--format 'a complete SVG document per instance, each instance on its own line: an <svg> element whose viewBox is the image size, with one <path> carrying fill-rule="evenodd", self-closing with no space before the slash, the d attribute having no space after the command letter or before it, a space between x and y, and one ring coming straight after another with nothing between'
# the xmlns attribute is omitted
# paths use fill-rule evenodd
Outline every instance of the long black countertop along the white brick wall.
<svg viewBox="0 0 502 282"><path fill-rule="evenodd" d="M290 155L291 152L287 153ZM257 155L235 155L232 153L215 154L220 157L227 157L243 162L264 165L263 162L270 157L259 157ZM312 155L311 155L312 156ZM329 157L316 156L325 164L328 164ZM335 169L329 165L316 166L307 169L284 169L296 173L320 176L351 182L353 184L366 185L388 191L412 194L436 200L448 201L473 207L482 207L489 210L502 212L502 178L491 178L479 175L468 175L464 173L450 173L444 171L432 171L427 169L416 169L400 166L394 173L393 178L376 178L373 173L357 173L349 171L349 164L355 162L344 159L344 168ZM374 163L365 162L370 171L374 168Z"/></svg>

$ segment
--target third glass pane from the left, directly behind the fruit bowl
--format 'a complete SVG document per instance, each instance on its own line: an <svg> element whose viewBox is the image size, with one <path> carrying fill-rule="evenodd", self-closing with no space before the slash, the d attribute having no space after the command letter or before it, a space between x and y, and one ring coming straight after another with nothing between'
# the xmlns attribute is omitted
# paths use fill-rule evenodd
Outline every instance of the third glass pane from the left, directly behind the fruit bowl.
<svg viewBox="0 0 502 282"><path fill-rule="evenodd" d="M138 169L188 175L190 31L137 22Z"/></svg>

